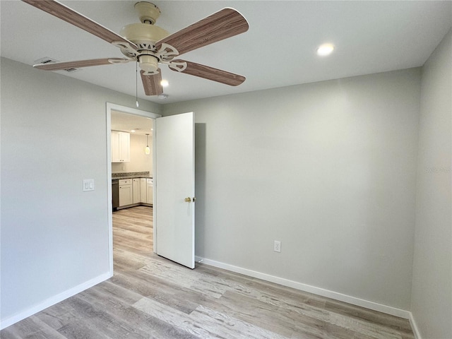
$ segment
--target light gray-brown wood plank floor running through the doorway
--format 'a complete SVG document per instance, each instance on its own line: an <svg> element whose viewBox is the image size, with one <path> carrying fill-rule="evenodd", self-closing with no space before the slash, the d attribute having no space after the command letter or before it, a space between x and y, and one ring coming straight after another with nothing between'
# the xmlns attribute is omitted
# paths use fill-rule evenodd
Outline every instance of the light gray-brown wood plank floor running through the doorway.
<svg viewBox="0 0 452 339"><path fill-rule="evenodd" d="M414 338L406 319L153 254L152 208L113 214L114 277L0 332L10 338Z"/></svg>

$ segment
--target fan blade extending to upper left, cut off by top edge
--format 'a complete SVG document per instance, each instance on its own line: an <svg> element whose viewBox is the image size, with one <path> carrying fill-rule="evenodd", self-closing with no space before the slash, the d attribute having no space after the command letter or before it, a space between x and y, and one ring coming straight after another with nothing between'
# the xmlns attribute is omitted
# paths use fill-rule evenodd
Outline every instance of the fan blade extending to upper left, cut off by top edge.
<svg viewBox="0 0 452 339"><path fill-rule="evenodd" d="M64 4L60 4L58 1L54 0L22 0L31 6L35 6L40 10L52 14L52 16L56 16L61 20L66 21L67 23L71 23L72 25L81 28L96 37L100 37L101 39L109 42L122 42L126 45L129 45L133 49L137 49L138 47L133 42L124 39L121 35L117 35L117 33L105 28L104 26L96 23L95 21L83 16L81 13L74 11L73 9L64 6Z"/></svg>

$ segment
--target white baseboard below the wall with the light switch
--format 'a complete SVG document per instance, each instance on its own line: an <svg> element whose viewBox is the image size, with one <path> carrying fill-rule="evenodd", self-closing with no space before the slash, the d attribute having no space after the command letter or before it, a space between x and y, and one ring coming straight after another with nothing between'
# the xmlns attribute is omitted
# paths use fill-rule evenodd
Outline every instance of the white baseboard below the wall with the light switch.
<svg viewBox="0 0 452 339"><path fill-rule="evenodd" d="M112 278L112 275L113 274L109 272L99 275L98 277L88 280L87 282L82 283L76 287L73 287L70 290L66 290L64 292L59 293L58 295L54 295L53 297L50 297L49 299L46 299L43 302L40 302L40 304L30 307L25 311L21 311L20 313L14 314L13 316L8 316L8 318L6 319L1 319L0 330L3 330L8 326L13 325L13 323L17 323L18 321L28 318L29 316L32 316L33 314L36 314L37 312L42 311L43 309L47 309L47 307L51 307L54 304L62 302L64 299L72 297L77 293L83 292L84 290L87 290L88 288L93 287L98 283L102 283L102 281Z"/></svg>

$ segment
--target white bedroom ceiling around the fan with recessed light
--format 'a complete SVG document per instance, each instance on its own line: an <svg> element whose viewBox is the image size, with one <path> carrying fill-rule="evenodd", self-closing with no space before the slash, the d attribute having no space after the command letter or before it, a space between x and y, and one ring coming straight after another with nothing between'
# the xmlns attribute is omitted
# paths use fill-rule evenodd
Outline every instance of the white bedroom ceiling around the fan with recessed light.
<svg viewBox="0 0 452 339"><path fill-rule="evenodd" d="M138 22L132 1L61 1L119 32ZM169 81L158 103L278 88L299 83L422 66L451 28L451 1L153 1L162 15L157 25L176 32L226 6L249 21L249 31L183 54L183 59L246 76L230 87L180 74L162 66ZM0 1L1 56L32 65L123 57L119 49L22 1ZM316 47L335 44L329 57ZM59 73L64 73L59 71ZM135 63L95 66L67 76L135 95ZM140 79L138 78L138 81Z"/></svg>

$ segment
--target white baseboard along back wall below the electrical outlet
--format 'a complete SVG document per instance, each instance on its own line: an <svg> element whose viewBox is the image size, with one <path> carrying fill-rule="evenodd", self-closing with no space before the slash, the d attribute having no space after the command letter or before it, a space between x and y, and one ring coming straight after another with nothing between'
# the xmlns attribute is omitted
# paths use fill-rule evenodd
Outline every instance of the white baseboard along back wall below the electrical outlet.
<svg viewBox="0 0 452 339"><path fill-rule="evenodd" d="M199 261L200 257L196 257ZM304 292L313 293L314 295L321 295L322 297L328 297L331 299L339 300L340 302L347 302L359 307L365 307L367 309L373 309L374 311L383 312L386 314L391 314L392 316L399 316L403 319L410 319L411 312L405 311L404 309L397 309L395 307L379 304L376 302L369 302L368 300L359 299L357 297L352 297L350 295L343 295L342 293L334 292L331 290L325 290L321 287L315 287L311 285L306 285L303 283L297 283L293 280L288 280L285 278L275 277L274 275L268 275L266 273L260 273L256 270L249 270L246 268L229 265L227 263L220 263L219 261L213 261L208 258L202 258L202 263L206 265L215 266L218 268L223 268L225 270L230 270L235 273L241 273L244 275L249 275L253 278L258 278L261 280L269 281L270 283L277 283L279 285L295 288L296 290L301 290ZM411 316L412 317L412 316ZM414 329L413 329L414 331Z"/></svg>

